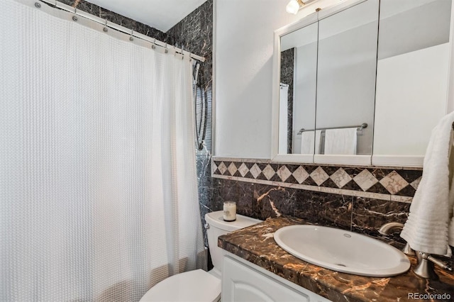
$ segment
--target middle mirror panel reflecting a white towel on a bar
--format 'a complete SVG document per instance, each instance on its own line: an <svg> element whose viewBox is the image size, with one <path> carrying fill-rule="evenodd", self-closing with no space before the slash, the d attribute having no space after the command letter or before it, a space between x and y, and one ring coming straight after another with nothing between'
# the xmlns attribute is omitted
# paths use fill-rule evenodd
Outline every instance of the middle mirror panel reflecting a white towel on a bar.
<svg viewBox="0 0 454 302"><path fill-rule="evenodd" d="M372 155L377 35L377 0L319 21L316 154Z"/></svg>

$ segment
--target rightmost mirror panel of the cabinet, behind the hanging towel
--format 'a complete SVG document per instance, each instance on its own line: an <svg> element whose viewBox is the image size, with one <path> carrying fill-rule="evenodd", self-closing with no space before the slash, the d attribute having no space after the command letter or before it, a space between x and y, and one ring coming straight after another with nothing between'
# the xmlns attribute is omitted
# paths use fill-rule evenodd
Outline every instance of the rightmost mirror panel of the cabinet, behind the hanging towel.
<svg viewBox="0 0 454 302"><path fill-rule="evenodd" d="M372 164L422 166L446 113L451 2L381 1Z"/></svg>

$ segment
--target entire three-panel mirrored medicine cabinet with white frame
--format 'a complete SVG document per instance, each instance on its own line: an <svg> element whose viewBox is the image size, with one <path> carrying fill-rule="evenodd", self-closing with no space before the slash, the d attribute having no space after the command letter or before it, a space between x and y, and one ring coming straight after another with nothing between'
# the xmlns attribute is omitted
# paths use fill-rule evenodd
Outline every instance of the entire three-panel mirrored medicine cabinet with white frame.
<svg viewBox="0 0 454 302"><path fill-rule="evenodd" d="M345 0L275 31L273 160L422 167L446 113L450 0Z"/></svg>

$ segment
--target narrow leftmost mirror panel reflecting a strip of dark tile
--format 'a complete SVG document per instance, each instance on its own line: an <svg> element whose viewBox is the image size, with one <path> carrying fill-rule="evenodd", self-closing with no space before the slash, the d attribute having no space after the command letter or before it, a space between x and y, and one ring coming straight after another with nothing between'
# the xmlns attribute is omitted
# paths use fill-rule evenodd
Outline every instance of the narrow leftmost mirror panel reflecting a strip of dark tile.
<svg viewBox="0 0 454 302"><path fill-rule="evenodd" d="M301 129L315 128L317 37L312 23L281 38L279 153L314 154L314 131L301 144ZM285 123L287 122L287 123ZM281 141L282 140L282 141Z"/></svg>

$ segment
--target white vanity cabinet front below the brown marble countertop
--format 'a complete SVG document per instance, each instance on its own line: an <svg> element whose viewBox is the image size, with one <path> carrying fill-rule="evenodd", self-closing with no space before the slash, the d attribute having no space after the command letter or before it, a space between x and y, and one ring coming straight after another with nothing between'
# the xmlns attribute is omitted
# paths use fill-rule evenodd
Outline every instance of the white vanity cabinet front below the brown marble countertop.
<svg viewBox="0 0 454 302"><path fill-rule="evenodd" d="M223 302L329 301L235 255L227 255L223 258L221 300Z"/></svg>

